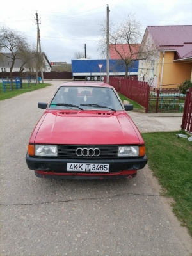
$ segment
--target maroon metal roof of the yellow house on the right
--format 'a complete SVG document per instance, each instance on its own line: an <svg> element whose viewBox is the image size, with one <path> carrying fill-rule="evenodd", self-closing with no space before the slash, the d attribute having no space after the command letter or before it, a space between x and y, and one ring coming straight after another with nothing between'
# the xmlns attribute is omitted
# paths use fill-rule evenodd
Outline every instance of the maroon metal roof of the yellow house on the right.
<svg viewBox="0 0 192 256"><path fill-rule="evenodd" d="M192 25L147 26L161 50L176 51L179 58L192 57Z"/></svg>

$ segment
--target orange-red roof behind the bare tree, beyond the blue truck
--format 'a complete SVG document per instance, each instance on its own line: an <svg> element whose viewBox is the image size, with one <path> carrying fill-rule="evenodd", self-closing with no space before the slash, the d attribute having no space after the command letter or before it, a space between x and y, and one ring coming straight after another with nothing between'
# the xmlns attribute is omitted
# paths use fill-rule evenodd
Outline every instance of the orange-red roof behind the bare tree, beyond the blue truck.
<svg viewBox="0 0 192 256"><path fill-rule="evenodd" d="M116 44L116 50L118 52L120 52L120 54L122 55L122 57L125 58L132 58L132 60L136 60L137 55L138 55L138 51L140 49L140 45L141 44L131 44L131 52L129 49L129 45L128 44ZM115 45L113 44L109 44L109 56L110 59L113 60L119 60L121 59L120 55L116 52L115 50Z"/></svg>

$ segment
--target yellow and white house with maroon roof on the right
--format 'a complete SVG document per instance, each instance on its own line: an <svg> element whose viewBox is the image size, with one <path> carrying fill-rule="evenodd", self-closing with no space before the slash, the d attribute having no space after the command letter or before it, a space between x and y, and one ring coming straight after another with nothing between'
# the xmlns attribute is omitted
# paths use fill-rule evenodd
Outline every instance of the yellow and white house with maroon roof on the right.
<svg viewBox="0 0 192 256"><path fill-rule="evenodd" d="M141 43L156 45L158 54L140 60L138 79L150 86L177 88L186 79L192 80L192 26L147 26Z"/></svg>

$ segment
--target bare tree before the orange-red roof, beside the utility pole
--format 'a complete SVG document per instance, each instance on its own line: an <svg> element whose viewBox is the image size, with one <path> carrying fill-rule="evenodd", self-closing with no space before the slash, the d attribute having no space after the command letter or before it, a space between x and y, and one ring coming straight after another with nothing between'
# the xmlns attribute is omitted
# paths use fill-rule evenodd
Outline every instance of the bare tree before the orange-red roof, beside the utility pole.
<svg viewBox="0 0 192 256"><path fill-rule="evenodd" d="M109 48L114 48L118 57L125 63L125 78L134 60L147 60L157 54L155 45L145 45L140 49L143 38L141 23L136 20L135 15L129 13L124 22L119 25L109 26ZM99 44L99 51L106 55L106 23L100 24L102 38Z"/></svg>

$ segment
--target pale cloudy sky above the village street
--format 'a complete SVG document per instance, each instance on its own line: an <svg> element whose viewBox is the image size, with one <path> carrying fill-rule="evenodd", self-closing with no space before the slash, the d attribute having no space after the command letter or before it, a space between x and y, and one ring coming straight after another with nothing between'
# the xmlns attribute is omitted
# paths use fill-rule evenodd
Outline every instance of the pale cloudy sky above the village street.
<svg viewBox="0 0 192 256"><path fill-rule="evenodd" d="M84 52L85 44L86 54L99 59L99 24L106 20L107 4L110 23L120 24L132 13L143 34L147 26L192 25L192 0L11 0L1 3L0 26L16 29L36 44L37 12L41 47L49 61L71 63L75 52Z"/></svg>

